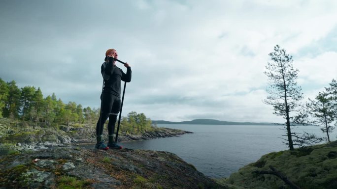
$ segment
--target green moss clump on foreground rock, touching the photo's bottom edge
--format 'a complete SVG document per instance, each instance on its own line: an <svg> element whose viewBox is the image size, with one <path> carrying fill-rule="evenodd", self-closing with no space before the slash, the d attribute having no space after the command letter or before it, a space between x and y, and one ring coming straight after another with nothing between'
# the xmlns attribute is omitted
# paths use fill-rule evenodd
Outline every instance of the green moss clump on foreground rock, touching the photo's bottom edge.
<svg viewBox="0 0 337 189"><path fill-rule="evenodd" d="M61 176L58 180L57 189L87 189L92 182L79 180L76 177Z"/></svg>

